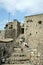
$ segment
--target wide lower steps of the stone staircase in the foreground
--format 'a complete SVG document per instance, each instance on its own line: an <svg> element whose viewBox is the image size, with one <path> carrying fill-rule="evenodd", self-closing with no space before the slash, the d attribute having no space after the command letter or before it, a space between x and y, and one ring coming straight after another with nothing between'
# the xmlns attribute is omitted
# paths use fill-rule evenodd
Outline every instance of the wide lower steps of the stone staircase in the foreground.
<svg viewBox="0 0 43 65"><path fill-rule="evenodd" d="M21 48L14 48L14 52L2 65L31 65L31 62L27 54L21 51Z"/></svg>

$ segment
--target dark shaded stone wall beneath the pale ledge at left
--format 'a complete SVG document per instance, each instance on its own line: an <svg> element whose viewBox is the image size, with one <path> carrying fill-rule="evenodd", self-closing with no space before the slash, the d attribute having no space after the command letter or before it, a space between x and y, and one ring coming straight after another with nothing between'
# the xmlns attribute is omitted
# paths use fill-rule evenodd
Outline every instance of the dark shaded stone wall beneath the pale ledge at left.
<svg viewBox="0 0 43 65"><path fill-rule="evenodd" d="M13 47L14 47L13 41L9 41L9 42L0 41L1 57L4 56L6 57L7 55L11 55L11 53L13 52Z"/></svg>

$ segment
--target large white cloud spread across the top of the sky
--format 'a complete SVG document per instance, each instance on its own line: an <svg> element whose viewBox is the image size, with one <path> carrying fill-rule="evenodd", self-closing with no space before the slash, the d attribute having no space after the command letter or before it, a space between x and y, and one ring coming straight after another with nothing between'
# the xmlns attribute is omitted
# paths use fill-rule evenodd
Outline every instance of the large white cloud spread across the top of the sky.
<svg viewBox="0 0 43 65"><path fill-rule="evenodd" d="M43 12L43 0L1 0L1 7L6 11L15 13L16 11L31 13Z"/></svg>

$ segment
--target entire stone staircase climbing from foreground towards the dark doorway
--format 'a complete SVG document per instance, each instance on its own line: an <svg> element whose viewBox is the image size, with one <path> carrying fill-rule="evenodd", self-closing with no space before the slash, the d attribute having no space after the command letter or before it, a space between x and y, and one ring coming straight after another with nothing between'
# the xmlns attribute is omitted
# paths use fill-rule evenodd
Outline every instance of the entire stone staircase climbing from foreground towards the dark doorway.
<svg viewBox="0 0 43 65"><path fill-rule="evenodd" d="M17 44L14 45L13 53L6 59L5 64L2 65L33 65L28 55L29 49L24 48L25 50L21 51L21 46L18 44L20 37L23 37L23 35L16 39Z"/></svg>

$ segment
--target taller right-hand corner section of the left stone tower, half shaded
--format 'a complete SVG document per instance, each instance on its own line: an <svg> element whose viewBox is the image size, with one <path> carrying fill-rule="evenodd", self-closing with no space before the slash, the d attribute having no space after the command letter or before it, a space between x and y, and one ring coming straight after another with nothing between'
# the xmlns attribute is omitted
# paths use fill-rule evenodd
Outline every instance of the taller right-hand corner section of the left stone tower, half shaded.
<svg viewBox="0 0 43 65"><path fill-rule="evenodd" d="M16 19L14 19L13 21L13 29L15 29L16 38L17 38L21 33L21 26L20 26L20 22Z"/></svg>

